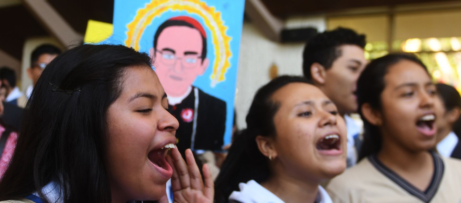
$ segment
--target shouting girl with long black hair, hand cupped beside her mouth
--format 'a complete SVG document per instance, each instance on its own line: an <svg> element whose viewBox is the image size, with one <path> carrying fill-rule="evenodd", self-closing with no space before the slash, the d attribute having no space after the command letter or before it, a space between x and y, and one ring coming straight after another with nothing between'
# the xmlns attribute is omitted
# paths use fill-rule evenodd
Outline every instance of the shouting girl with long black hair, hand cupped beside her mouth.
<svg viewBox="0 0 461 203"><path fill-rule="evenodd" d="M82 45L54 59L25 108L0 201L165 202L171 178L176 202L212 202L207 166L204 185L192 152L186 164L174 148L178 123L150 64L121 45Z"/></svg>

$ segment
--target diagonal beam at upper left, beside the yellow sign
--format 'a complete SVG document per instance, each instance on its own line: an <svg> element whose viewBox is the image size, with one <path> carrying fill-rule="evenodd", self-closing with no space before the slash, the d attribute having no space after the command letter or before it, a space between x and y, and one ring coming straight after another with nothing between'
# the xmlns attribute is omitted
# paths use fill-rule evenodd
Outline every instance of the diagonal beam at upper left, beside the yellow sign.
<svg viewBox="0 0 461 203"><path fill-rule="evenodd" d="M47 1L22 0L22 2L64 47L83 41L83 36L78 34Z"/></svg>

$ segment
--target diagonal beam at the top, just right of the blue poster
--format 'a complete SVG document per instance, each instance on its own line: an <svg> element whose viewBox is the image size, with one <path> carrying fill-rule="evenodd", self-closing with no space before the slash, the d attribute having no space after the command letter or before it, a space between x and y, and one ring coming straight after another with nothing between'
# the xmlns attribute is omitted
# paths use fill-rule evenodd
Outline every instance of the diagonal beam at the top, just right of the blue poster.
<svg viewBox="0 0 461 203"><path fill-rule="evenodd" d="M263 35L272 41L280 42L284 22L273 16L261 0L245 0L245 13Z"/></svg>

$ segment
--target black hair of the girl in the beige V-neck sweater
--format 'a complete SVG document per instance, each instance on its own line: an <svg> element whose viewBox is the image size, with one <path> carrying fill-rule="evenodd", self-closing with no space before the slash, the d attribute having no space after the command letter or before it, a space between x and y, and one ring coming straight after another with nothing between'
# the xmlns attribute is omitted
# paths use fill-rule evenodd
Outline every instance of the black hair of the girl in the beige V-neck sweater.
<svg viewBox="0 0 461 203"><path fill-rule="evenodd" d="M357 81L357 103L358 113L363 120L363 143L359 152L359 161L368 155L372 155L381 150L382 135L378 127L372 125L363 116L361 107L368 103L373 109L381 110L381 93L384 90L384 76L390 66L402 60L409 60L417 63L427 72L426 66L414 55L411 54L388 54L381 58L372 60L361 73ZM428 73L429 74L429 73Z"/></svg>

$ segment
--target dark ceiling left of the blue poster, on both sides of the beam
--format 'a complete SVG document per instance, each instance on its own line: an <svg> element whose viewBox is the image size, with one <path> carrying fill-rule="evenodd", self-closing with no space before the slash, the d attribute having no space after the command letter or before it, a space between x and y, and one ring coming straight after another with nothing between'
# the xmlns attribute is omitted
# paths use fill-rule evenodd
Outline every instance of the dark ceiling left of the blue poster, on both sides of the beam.
<svg viewBox="0 0 461 203"><path fill-rule="evenodd" d="M113 0L48 0L48 3L82 35L89 19L112 23ZM23 5L0 8L0 19L0 27L8 28L0 32L0 49L18 60L22 57L25 39L49 36Z"/></svg>

